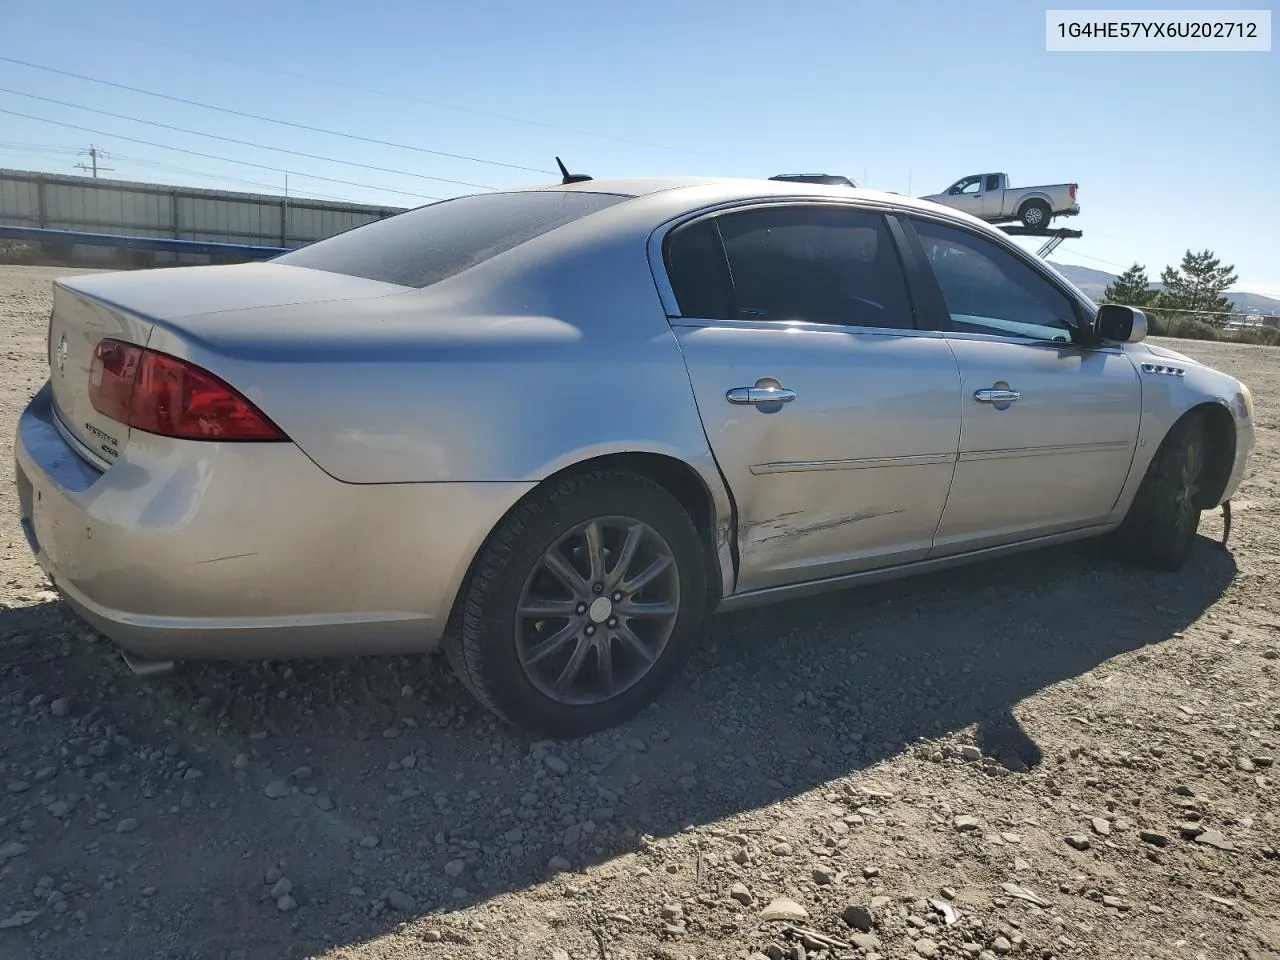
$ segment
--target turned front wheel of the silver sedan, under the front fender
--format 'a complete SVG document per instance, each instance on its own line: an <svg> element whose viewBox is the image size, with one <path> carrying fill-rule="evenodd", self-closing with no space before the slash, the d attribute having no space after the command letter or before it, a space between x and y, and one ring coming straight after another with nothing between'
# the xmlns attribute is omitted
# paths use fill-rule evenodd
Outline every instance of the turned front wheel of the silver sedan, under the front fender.
<svg viewBox="0 0 1280 960"><path fill-rule="evenodd" d="M1151 570L1179 570L1199 529L1196 504L1204 476L1207 434L1199 416L1180 420L1165 436L1114 534L1116 556Z"/></svg>

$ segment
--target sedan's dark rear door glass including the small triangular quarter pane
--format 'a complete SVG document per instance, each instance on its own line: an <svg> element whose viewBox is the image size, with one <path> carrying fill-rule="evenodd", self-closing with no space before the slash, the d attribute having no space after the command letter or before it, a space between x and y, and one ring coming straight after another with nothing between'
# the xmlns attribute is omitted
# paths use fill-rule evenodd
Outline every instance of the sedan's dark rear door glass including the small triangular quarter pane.
<svg viewBox="0 0 1280 960"><path fill-rule="evenodd" d="M897 248L879 214L780 205L703 223L705 233L677 232L668 246L668 271L685 316L915 325Z"/></svg>

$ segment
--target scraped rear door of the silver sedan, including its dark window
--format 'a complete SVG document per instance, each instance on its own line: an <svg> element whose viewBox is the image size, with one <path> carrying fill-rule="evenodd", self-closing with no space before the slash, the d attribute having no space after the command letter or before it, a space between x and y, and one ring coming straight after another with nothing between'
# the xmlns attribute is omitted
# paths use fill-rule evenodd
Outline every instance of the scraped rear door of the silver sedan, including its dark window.
<svg viewBox="0 0 1280 960"><path fill-rule="evenodd" d="M737 507L737 591L925 557L959 371L942 335L916 329L890 221L840 204L740 207L677 227L663 259Z"/></svg>

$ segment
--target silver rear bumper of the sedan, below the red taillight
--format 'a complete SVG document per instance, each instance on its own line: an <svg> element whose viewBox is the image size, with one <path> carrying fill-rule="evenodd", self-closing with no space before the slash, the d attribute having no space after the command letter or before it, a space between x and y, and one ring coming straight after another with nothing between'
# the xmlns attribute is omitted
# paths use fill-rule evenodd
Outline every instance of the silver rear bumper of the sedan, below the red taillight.
<svg viewBox="0 0 1280 960"><path fill-rule="evenodd" d="M431 649L475 552L531 484L344 484L291 443L133 434L106 471L54 422L15 443L22 525L68 603L156 659Z"/></svg>

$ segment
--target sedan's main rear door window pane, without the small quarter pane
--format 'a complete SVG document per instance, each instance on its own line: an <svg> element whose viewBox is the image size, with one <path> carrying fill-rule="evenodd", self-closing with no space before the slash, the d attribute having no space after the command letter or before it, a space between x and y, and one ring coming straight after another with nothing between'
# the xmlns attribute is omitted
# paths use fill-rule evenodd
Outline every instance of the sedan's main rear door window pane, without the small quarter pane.
<svg viewBox="0 0 1280 960"><path fill-rule="evenodd" d="M914 326L884 218L832 206L776 206L718 219L732 319Z"/></svg>

